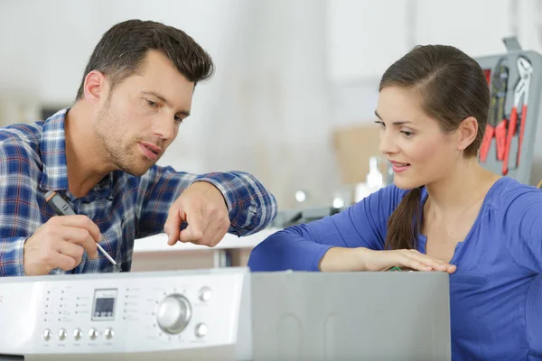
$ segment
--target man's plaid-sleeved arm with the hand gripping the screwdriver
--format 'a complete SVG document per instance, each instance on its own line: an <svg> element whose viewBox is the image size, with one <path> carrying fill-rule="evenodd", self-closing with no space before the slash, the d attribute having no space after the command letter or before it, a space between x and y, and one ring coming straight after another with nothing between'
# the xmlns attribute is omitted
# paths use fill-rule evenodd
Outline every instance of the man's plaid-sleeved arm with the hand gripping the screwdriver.
<svg viewBox="0 0 542 361"><path fill-rule="evenodd" d="M98 257L99 228L88 217L44 217L48 206L38 185L36 157L24 143L0 138L2 277L70 271L81 263L84 251L89 258Z"/></svg>

